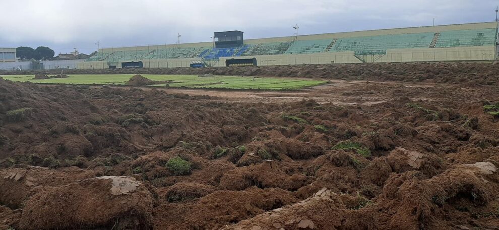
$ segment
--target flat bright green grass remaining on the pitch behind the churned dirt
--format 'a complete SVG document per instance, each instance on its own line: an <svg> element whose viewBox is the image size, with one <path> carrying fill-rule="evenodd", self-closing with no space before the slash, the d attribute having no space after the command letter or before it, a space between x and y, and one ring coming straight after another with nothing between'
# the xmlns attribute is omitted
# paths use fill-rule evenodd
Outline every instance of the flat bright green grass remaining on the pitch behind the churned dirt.
<svg viewBox="0 0 499 230"><path fill-rule="evenodd" d="M33 82L46 84L116 84L124 85L133 74L100 74L100 75L70 75L69 78L51 78L43 80L32 80L34 75L4 75L4 79L18 82ZM239 77L239 76L213 76L198 77L196 75L151 75L142 76L154 81L173 81L170 87L187 88L226 88L226 89L299 89L303 87L316 86L326 81L301 80L289 78L263 78L263 77ZM164 87L166 84L154 86Z"/></svg>

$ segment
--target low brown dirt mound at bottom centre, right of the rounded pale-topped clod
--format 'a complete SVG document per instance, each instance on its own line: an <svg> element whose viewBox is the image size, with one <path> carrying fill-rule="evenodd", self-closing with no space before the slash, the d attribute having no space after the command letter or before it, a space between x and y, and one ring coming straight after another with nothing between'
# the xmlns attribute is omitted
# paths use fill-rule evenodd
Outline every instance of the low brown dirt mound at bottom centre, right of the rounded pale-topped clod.
<svg viewBox="0 0 499 230"><path fill-rule="evenodd" d="M245 191L217 191L185 206L170 203L161 207L164 213L156 227L163 229L220 229L224 225L239 222L268 210L296 202L290 192L281 189L258 189ZM216 205L214 205L216 204ZM176 214L175 214L176 213Z"/></svg>

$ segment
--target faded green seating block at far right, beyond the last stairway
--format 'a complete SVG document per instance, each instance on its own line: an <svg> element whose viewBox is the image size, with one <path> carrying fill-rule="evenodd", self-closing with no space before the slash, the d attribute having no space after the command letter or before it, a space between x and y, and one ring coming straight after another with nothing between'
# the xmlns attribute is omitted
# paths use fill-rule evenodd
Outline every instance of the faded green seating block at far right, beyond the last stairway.
<svg viewBox="0 0 499 230"><path fill-rule="evenodd" d="M496 29L454 30L440 33L435 47L494 45Z"/></svg>

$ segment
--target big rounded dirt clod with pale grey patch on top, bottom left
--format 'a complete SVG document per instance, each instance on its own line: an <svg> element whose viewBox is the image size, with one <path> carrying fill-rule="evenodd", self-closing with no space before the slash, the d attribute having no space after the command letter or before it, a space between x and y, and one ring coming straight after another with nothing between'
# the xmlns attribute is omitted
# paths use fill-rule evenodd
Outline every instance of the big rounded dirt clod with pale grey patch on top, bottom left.
<svg viewBox="0 0 499 230"><path fill-rule="evenodd" d="M153 203L152 194L134 178L87 179L48 187L34 195L24 207L19 226L22 229L148 229Z"/></svg>

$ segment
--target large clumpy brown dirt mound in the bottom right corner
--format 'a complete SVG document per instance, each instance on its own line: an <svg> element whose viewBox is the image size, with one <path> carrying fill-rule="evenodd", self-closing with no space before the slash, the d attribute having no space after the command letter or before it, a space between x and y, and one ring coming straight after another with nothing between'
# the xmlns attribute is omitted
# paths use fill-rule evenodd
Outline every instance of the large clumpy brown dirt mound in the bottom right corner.
<svg viewBox="0 0 499 230"><path fill-rule="evenodd" d="M484 181L480 170L458 167L426 180L415 171L392 175L383 189L386 200L382 201L387 202L386 207L396 210L390 228L447 228L454 220L443 221L441 207L486 205L492 199L490 185Z"/></svg>

